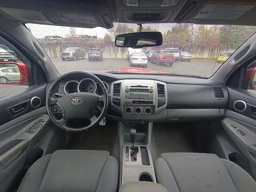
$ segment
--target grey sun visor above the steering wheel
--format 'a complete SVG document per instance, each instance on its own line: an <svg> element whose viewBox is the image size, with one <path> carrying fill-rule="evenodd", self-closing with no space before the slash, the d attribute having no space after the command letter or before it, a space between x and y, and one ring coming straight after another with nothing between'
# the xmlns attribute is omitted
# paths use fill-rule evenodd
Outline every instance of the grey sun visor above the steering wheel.
<svg viewBox="0 0 256 192"><path fill-rule="evenodd" d="M33 2L31 6L28 4L17 7L2 6L0 10L4 12L5 17L22 22L86 28L113 27L108 7L104 4L99 6L85 2L74 4L64 1L46 1L38 10L38 6L34 7Z"/></svg>

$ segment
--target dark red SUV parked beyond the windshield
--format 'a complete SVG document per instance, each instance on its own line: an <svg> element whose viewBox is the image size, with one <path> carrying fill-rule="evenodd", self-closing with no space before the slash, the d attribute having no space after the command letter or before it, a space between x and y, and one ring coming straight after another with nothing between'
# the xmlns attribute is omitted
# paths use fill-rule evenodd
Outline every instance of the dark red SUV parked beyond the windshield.
<svg viewBox="0 0 256 192"><path fill-rule="evenodd" d="M171 51L159 50L151 56L151 62L157 65L169 64L171 66L175 62L175 56Z"/></svg>

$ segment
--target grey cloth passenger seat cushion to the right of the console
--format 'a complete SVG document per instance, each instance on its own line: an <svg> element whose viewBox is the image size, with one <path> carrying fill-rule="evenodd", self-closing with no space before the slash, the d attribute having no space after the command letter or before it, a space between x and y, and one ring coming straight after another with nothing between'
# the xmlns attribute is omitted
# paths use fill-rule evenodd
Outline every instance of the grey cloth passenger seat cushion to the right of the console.
<svg viewBox="0 0 256 192"><path fill-rule="evenodd" d="M255 192L255 180L240 166L215 154L163 153L156 179L170 192Z"/></svg>

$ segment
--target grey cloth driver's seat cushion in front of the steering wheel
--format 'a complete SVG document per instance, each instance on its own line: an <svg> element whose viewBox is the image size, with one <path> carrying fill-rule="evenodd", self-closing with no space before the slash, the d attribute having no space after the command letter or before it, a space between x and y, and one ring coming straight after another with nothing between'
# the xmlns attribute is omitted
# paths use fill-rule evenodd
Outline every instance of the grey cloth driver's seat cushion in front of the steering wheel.
<svg viewBox="0 0 256 192"><path fill-rule="evenodd" d="M118 163L107 151L58 150L27 171L18 192L115 192Z"/></svg>

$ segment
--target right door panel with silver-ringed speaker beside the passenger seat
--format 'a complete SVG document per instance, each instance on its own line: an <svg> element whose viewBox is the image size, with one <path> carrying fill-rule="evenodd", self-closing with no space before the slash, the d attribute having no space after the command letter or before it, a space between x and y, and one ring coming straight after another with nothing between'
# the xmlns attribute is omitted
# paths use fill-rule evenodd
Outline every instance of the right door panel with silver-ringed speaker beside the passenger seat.
<svg viewBox="0 0 256 192"><path fill-rule="evenodd" d="M245 166L256 180L256 95L238 88L228 88L228 92L228 109L221 125L238 150L230 150L226 156Z"/></svg>

